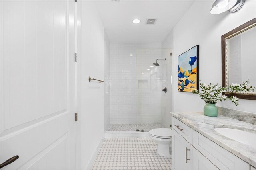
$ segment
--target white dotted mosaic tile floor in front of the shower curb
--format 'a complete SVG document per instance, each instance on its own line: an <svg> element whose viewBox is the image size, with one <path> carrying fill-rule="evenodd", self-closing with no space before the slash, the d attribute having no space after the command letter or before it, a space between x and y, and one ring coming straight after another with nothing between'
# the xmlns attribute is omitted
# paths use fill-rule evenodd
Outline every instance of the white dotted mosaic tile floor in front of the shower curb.
<svg viewBox="0 0 256 170"><path fill-rule="evenodd" d="M104 140L92 170L170 170L171 158L156 153L150 138L108 138Z"/></svg>

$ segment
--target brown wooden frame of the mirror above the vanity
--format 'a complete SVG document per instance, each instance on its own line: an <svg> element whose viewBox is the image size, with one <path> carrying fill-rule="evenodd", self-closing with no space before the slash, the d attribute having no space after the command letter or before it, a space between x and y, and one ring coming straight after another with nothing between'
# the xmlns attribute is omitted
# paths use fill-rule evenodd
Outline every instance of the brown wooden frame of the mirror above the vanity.
<svg viewBox="0 0 256 170"><path fill-rule="evenodd" d="M221 36L222 87L228 86L228 39L255 26L256 18L244 23L243 25L240 25L239 27ZM256 100L256 93L226 92L225 95L228 97L236 96L240 99Z"/></svg>

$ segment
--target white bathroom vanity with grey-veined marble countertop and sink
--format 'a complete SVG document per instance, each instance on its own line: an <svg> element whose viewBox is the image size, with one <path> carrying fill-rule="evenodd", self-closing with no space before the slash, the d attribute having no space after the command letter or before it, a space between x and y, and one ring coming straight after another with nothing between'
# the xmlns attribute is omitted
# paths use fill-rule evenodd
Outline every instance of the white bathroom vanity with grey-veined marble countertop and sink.
<svg viewBox="0 0 256 170"><path fill-rule="evenodd" d="M222 115L171 112L172 170L256 170L256 126Z"/></svg>

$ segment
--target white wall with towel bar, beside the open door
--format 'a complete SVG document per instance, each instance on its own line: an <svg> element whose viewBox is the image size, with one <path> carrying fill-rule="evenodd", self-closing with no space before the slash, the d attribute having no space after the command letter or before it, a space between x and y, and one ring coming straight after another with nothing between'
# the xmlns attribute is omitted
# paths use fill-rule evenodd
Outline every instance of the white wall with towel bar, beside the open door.
<svg viewBox="0 0 256 170"><path fill-rule="evenodd" d="M78 170L88 167L104 137L104 83L88 81L104 80L104 27L94 3L78 1Z"/></svg>

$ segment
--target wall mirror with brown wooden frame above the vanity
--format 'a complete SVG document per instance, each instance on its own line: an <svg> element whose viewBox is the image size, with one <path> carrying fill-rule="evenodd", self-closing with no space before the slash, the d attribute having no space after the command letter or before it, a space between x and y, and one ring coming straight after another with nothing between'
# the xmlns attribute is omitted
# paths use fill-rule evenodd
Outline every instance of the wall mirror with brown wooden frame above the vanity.
<svg viewBox="0 0 256 170"><path fill-rule="evenodd" d="M222 35L221 49L222 86L249 80L250 86L256 87L256 18ZM229 88L225 95L256 100L254 91L231 92Z"/></svg>

